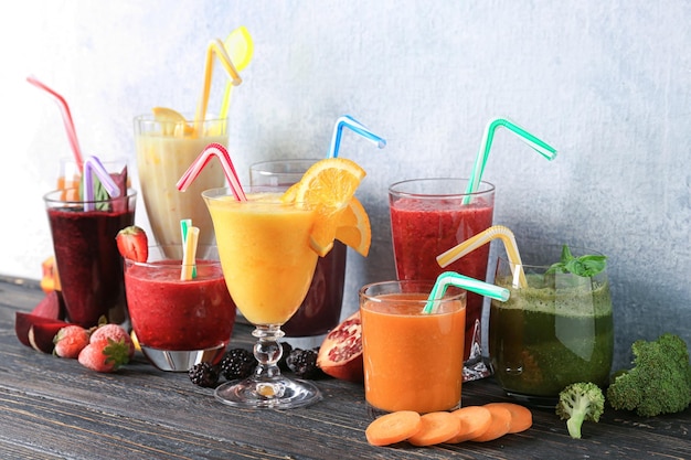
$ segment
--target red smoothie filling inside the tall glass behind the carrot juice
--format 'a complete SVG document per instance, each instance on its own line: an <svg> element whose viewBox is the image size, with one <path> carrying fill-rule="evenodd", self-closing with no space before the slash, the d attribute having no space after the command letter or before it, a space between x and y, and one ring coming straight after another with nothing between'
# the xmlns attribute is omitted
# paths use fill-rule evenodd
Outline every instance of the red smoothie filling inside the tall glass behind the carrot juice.
<svg viewBox="0 0 691 460"><path fill-rule="evenodd" d="M460 200L425 204L414 199L391 203L391 233L398 279L435 280L444 271L456 271L485 280L489 245L439 267L436 257L492 225L493 202L476 199L464 205ZM468 292L466 304L465 359L476 320L482 317L482 296Z"/></svg>

